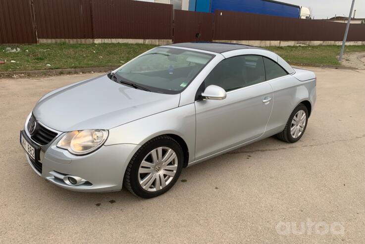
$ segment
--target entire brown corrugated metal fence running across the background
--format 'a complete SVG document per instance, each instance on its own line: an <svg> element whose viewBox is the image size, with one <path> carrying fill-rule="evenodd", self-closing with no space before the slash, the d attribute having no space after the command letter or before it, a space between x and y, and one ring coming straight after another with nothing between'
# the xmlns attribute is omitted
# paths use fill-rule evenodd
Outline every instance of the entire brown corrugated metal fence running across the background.
<svg viewBox="0 0 365 244"><path fill-rule="evenodd" d="M345 26L220 10L173 11L170 4L134 0L0 0L0 43L97 38L342 41ZM365 25L351 24L347 40L365 41Z"/></svg>

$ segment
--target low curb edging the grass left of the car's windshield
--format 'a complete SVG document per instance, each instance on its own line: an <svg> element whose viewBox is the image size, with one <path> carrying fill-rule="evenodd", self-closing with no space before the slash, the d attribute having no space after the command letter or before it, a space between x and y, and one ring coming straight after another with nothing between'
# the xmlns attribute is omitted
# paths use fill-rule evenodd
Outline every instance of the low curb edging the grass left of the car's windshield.
<svg viewBox="0 0 365 244"><path fill-rule="evenodd" d="M67 75L75 73L108 72L117 67L96 67L96 68L75 68L75 69L45 69L30 71L10 71L0 72L0 78L14 76L47 76L47 75Z"/></svg>

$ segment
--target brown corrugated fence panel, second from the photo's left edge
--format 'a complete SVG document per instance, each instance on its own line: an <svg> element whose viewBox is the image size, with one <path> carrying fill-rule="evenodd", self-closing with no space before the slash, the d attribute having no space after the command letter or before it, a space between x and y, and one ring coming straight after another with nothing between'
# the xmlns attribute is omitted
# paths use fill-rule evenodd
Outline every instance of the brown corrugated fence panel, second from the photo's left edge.
<svg viewBox="0 0 365 244"><path fill-rule="evenodd" d="M34 0L38 38L93 38L90 0Z"/></svg>

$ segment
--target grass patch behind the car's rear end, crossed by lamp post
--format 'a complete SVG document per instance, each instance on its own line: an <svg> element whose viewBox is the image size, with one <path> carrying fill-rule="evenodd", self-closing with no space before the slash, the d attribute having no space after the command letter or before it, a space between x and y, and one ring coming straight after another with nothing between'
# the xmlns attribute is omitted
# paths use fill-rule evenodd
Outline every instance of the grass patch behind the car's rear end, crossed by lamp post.
<svg viewBox="0 0 365 244"><path fill-rule="evenodd" d="M336 58L340 54L340 46L269 47L267 49L277 53L287 62L340 65ZM365 46L345 47L345 53L357 51L365 51Z"/></svg>

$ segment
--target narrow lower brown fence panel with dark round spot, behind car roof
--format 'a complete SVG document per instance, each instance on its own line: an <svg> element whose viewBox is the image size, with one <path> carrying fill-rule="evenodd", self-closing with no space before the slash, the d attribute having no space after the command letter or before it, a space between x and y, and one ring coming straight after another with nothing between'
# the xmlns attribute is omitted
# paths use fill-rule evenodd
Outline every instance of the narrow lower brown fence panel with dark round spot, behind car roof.
<svg viewBox="0 0 365 244"><path fill-rule="evenodd" d="M213 40L214 14L174 10L174 43ZM196 34L200 37L197 38Z"/></svg>

